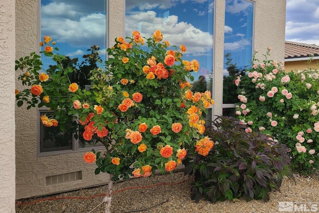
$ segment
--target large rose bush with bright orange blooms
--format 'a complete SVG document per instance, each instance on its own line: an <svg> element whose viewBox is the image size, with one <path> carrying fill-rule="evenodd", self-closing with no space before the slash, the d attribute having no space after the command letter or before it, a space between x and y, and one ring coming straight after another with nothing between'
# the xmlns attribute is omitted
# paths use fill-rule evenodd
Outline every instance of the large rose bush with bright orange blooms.
<svg viewBox="0 0 319 213"><path fill-rule="evenodd" d="M41 117L45 126L64 130L71 123L75 137L102 142L104 151L84 156L96 163L95 174L112 174L112 181L148 177L173 171L188 154L205 156L212 149L214 143L203 136L203 115L214 101L209 91L190 90L188 80L199 64L182 59L184 45L169 46L160 30L151 38L133 31L132 37L115 39L105 62L92 46L90 56L99 65L90 70L91 87L85 89L72 80L77 70L65 65L67 57L56 53L51 40L45 36L41 42L52 58L47 70L35 53L16 61L27 87L15 92L17 105L46 106L54 114Z"/></svg>

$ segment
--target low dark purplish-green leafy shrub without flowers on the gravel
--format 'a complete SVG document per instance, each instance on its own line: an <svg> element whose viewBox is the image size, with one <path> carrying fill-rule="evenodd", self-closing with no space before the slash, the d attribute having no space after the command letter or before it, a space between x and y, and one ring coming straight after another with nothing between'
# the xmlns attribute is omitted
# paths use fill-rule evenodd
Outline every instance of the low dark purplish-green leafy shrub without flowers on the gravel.
<svg viewBox="0 0 319 213"><path fill-rule="evenodd" d="M279 191L283 176L294 178L289 169L289 148L232 117L217 117L205 135L215 139L207 156L188 155L183 161L185 175L194 175L191 198L203 195L209 201L233 200L244 196L269 200L269 192Z"/></svg>

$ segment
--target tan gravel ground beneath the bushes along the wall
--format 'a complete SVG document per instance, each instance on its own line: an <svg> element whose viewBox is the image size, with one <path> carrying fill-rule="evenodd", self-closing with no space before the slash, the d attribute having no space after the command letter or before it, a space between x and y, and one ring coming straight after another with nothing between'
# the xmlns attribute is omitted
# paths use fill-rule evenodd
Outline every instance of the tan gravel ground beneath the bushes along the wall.
<svg viewBox="0 0 319 213"><path fill-rule="evenodd" d="M174 185L158 185L169 183ZM215 204L201 200L195 203L190 199L190 187L192 179L184 176L183 172L175 172L173 175L157 175L151 178L135 178L113 185L113 198L111 202L112 213L277 213L278 202L301 202L308 205L315 202L319 209L319 178L296 176L294 181L285 178L281 187L281 193L272 192L270 201L239 200L238 202L217 202ZM150 186L153 186L152 188ZM148 187L145 189L129 189L128 187ZM27 203L40 199L58 197L92 197L105 193L105 186L82 189L68 193L45 196L34 199L19 200L17 203ZM116 192L119 191L119 192ZM96 198L61 199L41 201L30 205L16 205L16 213L89 213L102 203L104 196ZM163 203L165 202L165 203ZM155 206L155 207L153 207ZM92 213L104 213L104 204L97 207ZM148 210L144 210L150 208ZM144 211L141 211L144 210ZM310 208L308 207L308 212ZM314 212L313 209L312 212ZM306 212L300 210L300 212ZM319 210L318 210L319 212Z"/></svg>

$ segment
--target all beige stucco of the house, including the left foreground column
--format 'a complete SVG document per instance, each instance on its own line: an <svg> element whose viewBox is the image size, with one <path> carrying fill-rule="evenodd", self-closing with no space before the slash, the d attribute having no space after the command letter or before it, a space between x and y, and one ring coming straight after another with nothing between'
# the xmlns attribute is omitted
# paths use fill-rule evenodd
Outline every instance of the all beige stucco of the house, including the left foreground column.
<svg viewBox="0 0 319 213"><path fill-rule="evenodd" d="M108 3L108 42L110 45L112 45L115 37L124 36L124 2L124 0L109 0ZM255 0L254 2L253 48L263 53L268 46L272 46L274 49L272 58L279 61L283 60L286 0ZM213 69L216 73L213 87L213 98L215 99L213 113L215 115L222 114L224 11L225 0L215 0L213 63ZM7 14L11 15L8 16ZM85 152L37 157L37 110L16 107L14 112L13 93L14 59L25 56L30 52L38 51L39 36L37 32L39 23L37 21L39 21L39 18L37 17L37 0L15 0L15 3L12 0L4 0L4 2L2 0L0 2L0 19L4 20L4 22L0 21L0 67L1 71L3 70L6 73L2 75L2 92L0 95L0 102L2 103L3 101L0 104L0 111L3 115L3 122L0 123L0 131L3 132L3 136L0 138L0 153L1 157L4 156L2 158L4 162L0 162L0 171L9 171L9 173L5 174L0 173L0 200L4 201L0 203L0 212L1 205L5 205L5 208L11 208L9 211L4 211L5 213L14 211L12 207L14 196L15 199L22 199L107 183L108 176L106 174L94 175L95 165L84 163L83 154ZM14 48L12 48L14 46L15 53ZM262 59L261 54L260 57ZM15 81L15 88L18 90L23 89L18 81ZM16 156L15 177L14 154ZM76 171L82 171L82 180L46 186L46 177ZM14 187L16 189L15 195ZM7 193L7 191L11 193Z"/></svg>

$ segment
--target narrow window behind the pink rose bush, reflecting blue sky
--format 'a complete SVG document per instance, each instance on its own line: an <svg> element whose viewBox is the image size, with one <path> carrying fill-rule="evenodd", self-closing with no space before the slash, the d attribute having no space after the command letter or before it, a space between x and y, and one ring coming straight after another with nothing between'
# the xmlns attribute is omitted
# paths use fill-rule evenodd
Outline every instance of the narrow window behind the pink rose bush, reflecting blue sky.
<svg viewBox="0 0 319 213"><path fill-rule="evenodd" d="M253 55L254 2L226 0L224 26L223 115L234 116L234 80L244 75Z"/></svg>

